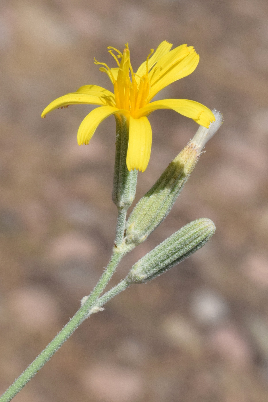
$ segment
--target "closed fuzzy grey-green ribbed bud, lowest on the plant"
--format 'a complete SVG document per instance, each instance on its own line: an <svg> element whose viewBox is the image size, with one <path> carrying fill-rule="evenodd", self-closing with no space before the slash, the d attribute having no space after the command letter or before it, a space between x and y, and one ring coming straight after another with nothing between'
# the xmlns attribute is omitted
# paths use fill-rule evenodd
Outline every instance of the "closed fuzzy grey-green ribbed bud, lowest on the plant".
<svg viewBox="0 0 268 402"><path fill-rule="evenodd" d="M154 279L199 250L214 232L215 225L210 219L190 222L134 264L126 280L145 283Z"/></svg>

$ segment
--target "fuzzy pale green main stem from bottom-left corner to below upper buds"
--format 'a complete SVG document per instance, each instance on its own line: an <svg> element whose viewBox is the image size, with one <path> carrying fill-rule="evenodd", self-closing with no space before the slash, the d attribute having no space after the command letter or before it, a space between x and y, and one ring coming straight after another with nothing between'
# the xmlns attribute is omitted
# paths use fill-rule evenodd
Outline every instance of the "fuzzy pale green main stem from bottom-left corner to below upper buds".
<svg viewBox="0 0 268 402"><path fill-rule="evenodd" d="M94 306L99 295L103 292L107 283L111 279L119 261L124 256L126 251L119 252L116 248L113 250L111 260L107 265L103 275L99 279L97 285L85 301L85 304L74 314L68 324L55 336L55 338L47 345L47 347L40 353L39 356L27 367L25 371L14 381L14 383L4 392L0 397L0 402L10 401L31 378L35 376L37 371L58 351L62 344L72 335L76 328L85 321L91 314L90 310ZM103 299L104 300L104 299Z"/></svg>

